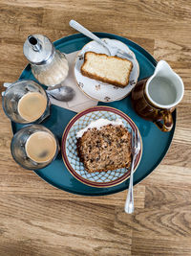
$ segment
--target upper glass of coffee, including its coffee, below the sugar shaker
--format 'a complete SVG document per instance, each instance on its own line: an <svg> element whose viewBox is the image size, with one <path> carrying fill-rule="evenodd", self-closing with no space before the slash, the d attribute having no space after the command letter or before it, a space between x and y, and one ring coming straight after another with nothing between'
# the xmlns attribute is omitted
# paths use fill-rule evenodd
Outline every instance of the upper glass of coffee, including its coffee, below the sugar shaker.
<svg viewBox="0 0 191 256"><path fill-rule="evenodd" d="M50 115L48 95L35 81L11 83L3 96L3 108L11 121L20 124L38 124Z"/></svg>

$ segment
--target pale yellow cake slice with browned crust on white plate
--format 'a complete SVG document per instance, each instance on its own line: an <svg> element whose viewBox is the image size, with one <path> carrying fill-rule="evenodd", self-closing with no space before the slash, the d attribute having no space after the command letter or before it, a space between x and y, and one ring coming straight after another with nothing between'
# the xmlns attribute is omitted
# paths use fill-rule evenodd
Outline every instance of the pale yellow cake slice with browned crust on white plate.
<svg viewBox="0 0 191 256"><path fill-rule="evenodd" d="M126 58L86 52L81 73L91 79L125 87L129 83L132 68L132 62Z"/></svg>

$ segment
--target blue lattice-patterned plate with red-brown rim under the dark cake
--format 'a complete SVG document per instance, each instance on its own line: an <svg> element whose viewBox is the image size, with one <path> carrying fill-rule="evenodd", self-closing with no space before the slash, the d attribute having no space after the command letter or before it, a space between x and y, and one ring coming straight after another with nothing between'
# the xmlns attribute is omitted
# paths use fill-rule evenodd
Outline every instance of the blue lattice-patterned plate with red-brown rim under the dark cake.
<svg viewBox="0 0 191 256"><path fill-rule="evenodd" d="M109 120L116 120L118 118L122 120L125 128L128 128L129 131L135 132L135 130L138 130L135 123L118 109L110 106L95 106L88 108L74 116L63 133L61 148L62 158L65 162L65 165L75 178L85 183L86 185L103 188L115 186L127 179L130 175L130 168L121 168L115 171L96 172L94 174L89 174L84 169L84 165L79 161L76 151L76 132L82 128L87 127L92 121L95 121L99 118L105 118ZM138 136L140 137L139 131ZM136 159L134 172L138 168L141 153L142 144L141 150L138 153L138 157Z"/></svg>

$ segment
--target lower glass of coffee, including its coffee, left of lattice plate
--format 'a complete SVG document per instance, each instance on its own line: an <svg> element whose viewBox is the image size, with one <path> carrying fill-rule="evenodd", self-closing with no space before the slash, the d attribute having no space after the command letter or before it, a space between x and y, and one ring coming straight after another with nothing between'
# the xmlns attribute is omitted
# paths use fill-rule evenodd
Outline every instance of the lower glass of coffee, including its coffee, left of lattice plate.
<svg viewBox="0 0 191 256"><path fill-rule="evenodd" d="M53 162L59 144L53 132L41 125L30 125L17 131L11 140L11 154L25 169L42 169Z"/></svg>

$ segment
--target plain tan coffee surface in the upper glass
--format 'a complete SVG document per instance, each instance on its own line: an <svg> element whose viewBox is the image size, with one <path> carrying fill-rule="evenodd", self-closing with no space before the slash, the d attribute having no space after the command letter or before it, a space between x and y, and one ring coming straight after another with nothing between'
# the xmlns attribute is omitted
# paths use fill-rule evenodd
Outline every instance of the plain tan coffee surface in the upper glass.
<svg viewBox="0 0 191 256"><path fill-rule="evenodd" d="M28 92L18 102L18 113L26 121L41 117L47 107L47 98L39 92Z"/></svg>

